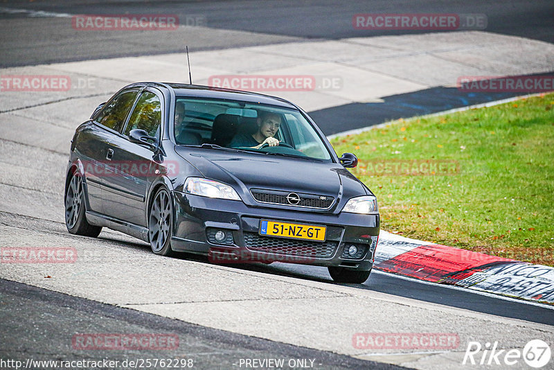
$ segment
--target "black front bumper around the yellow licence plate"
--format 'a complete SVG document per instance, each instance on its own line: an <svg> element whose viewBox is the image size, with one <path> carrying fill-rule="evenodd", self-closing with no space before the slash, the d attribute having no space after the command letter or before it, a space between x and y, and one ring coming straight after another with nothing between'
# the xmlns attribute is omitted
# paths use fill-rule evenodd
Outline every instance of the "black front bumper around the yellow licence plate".
<svg viewBox="0 0 554 370"><path fill-rule="evenodd" d="M320 266L341 266L370 270L379 236L379 215L355 213L316 213L290 209L247 206L243 202L221 200L178 191L172 192L175 209L172 249L207 254L215 263L273 261ZM258 234L260 220L280 220L327 227L325 242L275 238ZM215 243L208 232L224 230L232 234L225 244ZM345 248L355 245L358 253Z"/></svg>

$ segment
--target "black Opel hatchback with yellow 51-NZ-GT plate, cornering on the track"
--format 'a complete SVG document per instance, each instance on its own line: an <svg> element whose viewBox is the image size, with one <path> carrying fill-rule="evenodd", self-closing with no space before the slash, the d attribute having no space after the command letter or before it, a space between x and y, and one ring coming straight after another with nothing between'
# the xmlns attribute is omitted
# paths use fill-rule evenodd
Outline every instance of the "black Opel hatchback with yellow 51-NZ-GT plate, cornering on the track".
<svg viewBox="0 0 554 370"><path fill-rule="evenodd" d="M109 227L152 252L214 263L282 261L368 278L377 200L302 109L246 91L141 82L96 108L71 141L71 234Z"/></svg>

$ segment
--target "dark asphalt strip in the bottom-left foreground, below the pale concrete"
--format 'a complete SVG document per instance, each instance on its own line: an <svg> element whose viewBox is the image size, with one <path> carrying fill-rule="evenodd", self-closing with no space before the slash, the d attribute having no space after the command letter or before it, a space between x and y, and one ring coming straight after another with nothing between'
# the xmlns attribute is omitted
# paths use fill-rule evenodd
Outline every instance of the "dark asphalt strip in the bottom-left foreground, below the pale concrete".
<svg viewBox="0 0 554 370"><path fill-rule="evenodd" d="M310 359L314 360L318 369L360 369L368 366L366 360L218 331L12 281L1 281L0 294L4 303L0 306L3 333L18 333L17 336L2 336L0 356L3 359L15 355L8 348L18 348L25 355L48 353L64 360L80 360L82 358L71 346L60 346L66 340L66 333L101 327L110 333L129 330L176 333L179 335L179 352L172 354L172 357L193 358L197 361L195 367L202 369L232 369L240 358ZM28 321L35 322L35 326L29 326ZM159 351L155 350L128 351L115 356L109 352L96 351L93 355L87 355L87 360L109 358L123 362L125 359L159 357ZM379 362L369 362L369 366L372 369L402 369Z"/></svg>

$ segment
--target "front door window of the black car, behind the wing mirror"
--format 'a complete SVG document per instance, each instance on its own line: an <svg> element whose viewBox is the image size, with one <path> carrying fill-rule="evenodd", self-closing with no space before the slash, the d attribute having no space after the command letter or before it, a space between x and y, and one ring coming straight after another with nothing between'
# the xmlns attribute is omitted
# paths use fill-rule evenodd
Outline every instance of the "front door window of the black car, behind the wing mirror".
<svg viewBox="0 0 554 370"><path fill-rule="evenodd" d="M156 94L149 91L143 92L125 127L125 135L131 130L139 128L148 132L150 136L159 139L159 127L161 123L161 103Z"/></svg>

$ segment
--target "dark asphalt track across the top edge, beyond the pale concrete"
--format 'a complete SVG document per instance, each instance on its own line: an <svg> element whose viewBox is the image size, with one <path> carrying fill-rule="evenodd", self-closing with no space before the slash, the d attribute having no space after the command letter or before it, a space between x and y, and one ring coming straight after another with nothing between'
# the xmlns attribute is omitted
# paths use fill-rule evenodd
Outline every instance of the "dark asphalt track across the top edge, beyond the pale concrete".
<svg viewBox="0 0 554 370"><path fill-rule="evenodd" d="M152 2L154 3L154 2ZM203 17L211 28L207 34L179 31L179 37L152 39L151 33L100 35L75 33L66 29L64 18L31 19L23 14L0 11L0 66L114 58L123 55L148 55L191 50L213 50L238 46L274 44L302 39L339 39L422 33L413 30L364 31L352 28L357 13L467 13L485 14L487 30L554 42L554 6L551 1L271 1L259 6L256 1L2 1L1 7L66 14L176 14L179 19ZM39 32L37 32L39 30ZM221 32L222 30L232 32ZM252 37L251 33L256 33ZM14 37L17 35L17 37ZM60 47L61 46L61 47Z"/></svg>

